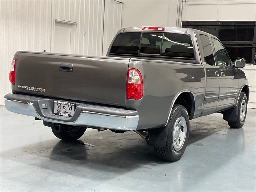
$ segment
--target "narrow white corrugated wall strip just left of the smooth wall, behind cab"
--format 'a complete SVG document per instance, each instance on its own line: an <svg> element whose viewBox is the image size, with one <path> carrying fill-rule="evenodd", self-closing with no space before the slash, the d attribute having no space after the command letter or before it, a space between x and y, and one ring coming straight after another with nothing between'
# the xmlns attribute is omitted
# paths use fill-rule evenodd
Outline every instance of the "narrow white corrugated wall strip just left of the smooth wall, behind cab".
<svg viewBox="0 0 256 192"><path fill-rule="evenodd" d="M122 26L122 6L123 3L113 0L105 1L104 11L104 34L103 34L103 52L106 55L108 47Z"/></svg>

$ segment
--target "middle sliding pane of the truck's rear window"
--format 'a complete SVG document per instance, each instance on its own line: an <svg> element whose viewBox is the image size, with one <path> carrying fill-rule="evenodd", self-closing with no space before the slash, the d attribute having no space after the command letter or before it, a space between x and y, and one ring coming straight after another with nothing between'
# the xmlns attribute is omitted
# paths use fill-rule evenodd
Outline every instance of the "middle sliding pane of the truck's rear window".
<svg viewBox="0 0 256 192"><path fill-rule="evenodd" d="M162 33L143 33L140 45L140 53L159 55L162 38ZM145 44L144 42L149 42L149 44Z"/></svg>

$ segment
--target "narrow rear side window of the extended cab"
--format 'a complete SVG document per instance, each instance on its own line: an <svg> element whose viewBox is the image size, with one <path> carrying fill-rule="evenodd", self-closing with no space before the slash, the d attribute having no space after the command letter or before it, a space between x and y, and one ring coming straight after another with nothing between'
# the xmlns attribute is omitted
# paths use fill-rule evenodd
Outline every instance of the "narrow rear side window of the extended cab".
<svg viewBox="0 0 256 192"><path fill-rule="evenodd" d="M215 65L212 46L208 36L206 35L199 35L199 36L200 36L200 42L204 52L204 62L206 62L209 65Z"/></svg>

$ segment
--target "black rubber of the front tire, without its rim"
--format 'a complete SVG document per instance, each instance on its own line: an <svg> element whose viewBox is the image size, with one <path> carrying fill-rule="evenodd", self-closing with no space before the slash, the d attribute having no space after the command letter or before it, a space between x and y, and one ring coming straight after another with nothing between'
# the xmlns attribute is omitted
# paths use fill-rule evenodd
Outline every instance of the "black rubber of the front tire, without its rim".
<svg viewBox="0 0 256 192"><path fill-rule="evenodd" d="M241 106L242 106L242 104L244 104L243 101L245 101L245 115L244 115L244 118L241 120L240 114L241 114ZM236 118L236 121L228 121L228 125L230 127L241 128L244 126L244 122L245 122L246 115L247 115L247 104L248 104L247 96L244 92L241 92L241 94L239 95L239 98L238 98L237 106L236 106L236 108L233 109L233 110L238 110L237 118Z"/></svg>

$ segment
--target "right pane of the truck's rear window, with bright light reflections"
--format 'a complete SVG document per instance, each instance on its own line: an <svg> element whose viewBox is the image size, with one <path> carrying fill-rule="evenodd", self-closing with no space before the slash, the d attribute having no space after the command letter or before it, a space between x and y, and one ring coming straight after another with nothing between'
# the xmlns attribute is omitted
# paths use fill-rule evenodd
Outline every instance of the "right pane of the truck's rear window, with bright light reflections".
<svg viewBox="0 0 256 192"><path fill-rule="evenodd" d="M184 34L165 33L161 56L194 58L191 38Z"/></svg>

